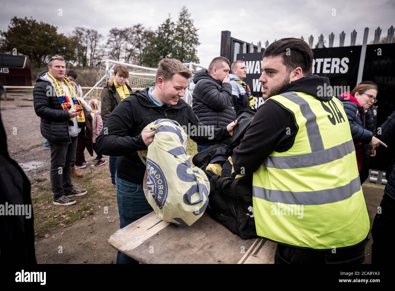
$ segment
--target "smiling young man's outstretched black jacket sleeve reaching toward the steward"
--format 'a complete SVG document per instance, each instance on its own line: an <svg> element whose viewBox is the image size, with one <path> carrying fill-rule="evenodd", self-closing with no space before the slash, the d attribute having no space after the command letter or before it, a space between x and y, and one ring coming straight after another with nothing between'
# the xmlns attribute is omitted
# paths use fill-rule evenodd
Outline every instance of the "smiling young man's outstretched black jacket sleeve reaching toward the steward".
<svg viewBox="0 0 395 291"><path fill-rule="evenodd" d="M190 135L192 141L196 143L202 143L204 145L214 145L216 143L220 143L228 139L230 134L226 129L227 126L220 128L212 128L211 126L203 125L199 120L196 114L193 112L192 107L188 106L188 119L191 125L196 126L198 128L203 128L203 130L197 130L198 133L207 133L207 135Z"/></svg>

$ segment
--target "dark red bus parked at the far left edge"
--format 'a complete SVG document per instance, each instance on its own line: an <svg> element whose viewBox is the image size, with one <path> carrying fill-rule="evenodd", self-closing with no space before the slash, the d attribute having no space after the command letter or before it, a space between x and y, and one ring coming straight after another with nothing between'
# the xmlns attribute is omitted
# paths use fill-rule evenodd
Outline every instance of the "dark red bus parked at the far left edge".
<svg viewBox="0 0 395 291"><path fill-rule="evenodd" d="M4 86L32 86L29 57L0 53L0 82Z"/></svg>

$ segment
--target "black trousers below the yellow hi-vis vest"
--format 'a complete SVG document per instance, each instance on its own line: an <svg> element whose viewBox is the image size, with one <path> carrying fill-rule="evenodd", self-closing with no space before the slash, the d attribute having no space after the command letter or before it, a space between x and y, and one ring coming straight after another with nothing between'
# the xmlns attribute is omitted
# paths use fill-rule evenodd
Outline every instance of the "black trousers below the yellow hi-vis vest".
<svg viewBox="0 0 395 291"><path fill-rule="evenodd" d="M278 243L275 264L361 264L365 261L367 237L347 248L329 250L302 249Z"/></svg>

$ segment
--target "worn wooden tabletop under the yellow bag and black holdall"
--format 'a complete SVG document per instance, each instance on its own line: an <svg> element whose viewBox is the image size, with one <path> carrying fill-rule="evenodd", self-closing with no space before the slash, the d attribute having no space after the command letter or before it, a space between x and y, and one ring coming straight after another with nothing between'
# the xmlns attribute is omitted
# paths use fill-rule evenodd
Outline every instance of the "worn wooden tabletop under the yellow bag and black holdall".
<svg viewBox="0 0 395 291"><path fill-rule="evenodd" d="M188 228L160 222L154 212L118 230L109 243L142 263L249 263L271 262L272 247L260 247L265 239L243 240L205 213ZM249 259L256 253L258 257ZM255 252L254 252L255 250ZM265 253L265 254L263 254ZM254 257L255 258L255 257ZM245 263L244 262L244 263ZM241 262L243 263L243 262Z"/></svg>

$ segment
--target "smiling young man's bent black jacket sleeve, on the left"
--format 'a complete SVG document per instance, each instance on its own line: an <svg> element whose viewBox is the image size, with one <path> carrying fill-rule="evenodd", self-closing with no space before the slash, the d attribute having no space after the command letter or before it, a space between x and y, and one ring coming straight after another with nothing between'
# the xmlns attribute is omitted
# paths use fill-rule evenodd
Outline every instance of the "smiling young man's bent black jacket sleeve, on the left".
<svg viewBox="0 0 395 291"><path fill-rule="evenodd" d="M147 148L141 133L137 137L128 135L135 123L131 101L132 99L126 98L115 107L96 138L96 148L101 154L124 156Z"/></svg>

